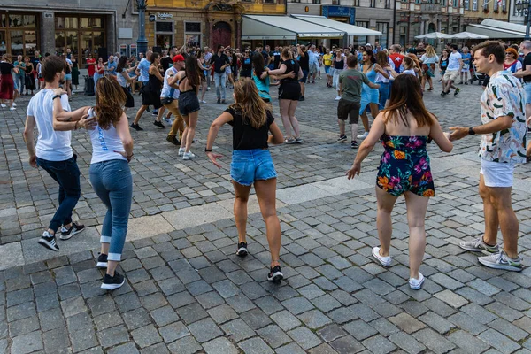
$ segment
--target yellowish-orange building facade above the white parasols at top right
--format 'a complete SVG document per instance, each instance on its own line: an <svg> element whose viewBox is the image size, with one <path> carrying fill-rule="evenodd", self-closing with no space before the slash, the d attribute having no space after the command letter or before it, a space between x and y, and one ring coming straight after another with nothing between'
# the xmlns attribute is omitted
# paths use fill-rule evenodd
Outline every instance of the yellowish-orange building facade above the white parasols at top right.
<svg viewBox="0 0 531 354"><path fill-rule="evenodd" d="M463 2L465 25L481 23L483 19L509 20L510 0L463 0Z"/></svg>

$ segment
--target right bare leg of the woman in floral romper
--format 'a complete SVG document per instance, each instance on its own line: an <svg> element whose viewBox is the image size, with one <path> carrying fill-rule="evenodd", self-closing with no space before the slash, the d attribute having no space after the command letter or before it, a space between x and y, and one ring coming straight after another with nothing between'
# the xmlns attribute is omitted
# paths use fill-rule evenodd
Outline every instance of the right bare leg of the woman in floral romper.
<svg viewBox="0 0 531 354"><path fill-rule="evenodd" d="M428 197L405 192L407 223L410 228L410 278L419 279L419 268L426 250L426 219Z"/></svg>

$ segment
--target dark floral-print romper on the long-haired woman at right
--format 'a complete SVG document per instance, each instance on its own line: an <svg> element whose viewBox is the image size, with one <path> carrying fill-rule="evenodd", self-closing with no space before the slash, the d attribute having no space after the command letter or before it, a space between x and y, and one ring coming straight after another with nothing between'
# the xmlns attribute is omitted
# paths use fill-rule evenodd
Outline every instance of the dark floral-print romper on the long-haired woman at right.
<svg viewBox="0 0 531 354"><path fill-rule="evenodd" d="M376 185L392 196L402 196L407 191L418 196L435 196L427 136L383 135L381 142L385 151L381 154Z"/></svg>

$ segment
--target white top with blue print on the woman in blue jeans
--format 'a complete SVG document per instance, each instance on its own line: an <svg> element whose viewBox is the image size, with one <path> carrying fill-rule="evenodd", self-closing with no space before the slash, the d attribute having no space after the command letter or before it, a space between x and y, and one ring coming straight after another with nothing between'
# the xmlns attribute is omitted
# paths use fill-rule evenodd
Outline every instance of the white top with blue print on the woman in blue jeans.
<svg viewBox="0 0 531 354"><path fill-rule="evenodd" d="M91 108L89 110L89 117L94 117L94 111ZM92 142L92 159L91 164L98 162L110 161L110 160L126 160L118 152L123 151L124 145L119 138L116 128L111 124L109 129L103 129L96 125L92 130L89 130L90 141Z"/></svg>

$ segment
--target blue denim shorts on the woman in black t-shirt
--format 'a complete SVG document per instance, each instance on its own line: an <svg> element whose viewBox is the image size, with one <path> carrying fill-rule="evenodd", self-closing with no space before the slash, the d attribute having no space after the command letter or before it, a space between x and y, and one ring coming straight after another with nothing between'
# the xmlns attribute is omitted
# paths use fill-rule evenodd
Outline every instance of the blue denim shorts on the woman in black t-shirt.
<svg viewBox="0 0 531 354"><path fill-rule="evenodd" d="M230 178L242 186L257 180L276 178L273 159L267 149L233 150Z"/></svg>

